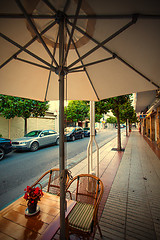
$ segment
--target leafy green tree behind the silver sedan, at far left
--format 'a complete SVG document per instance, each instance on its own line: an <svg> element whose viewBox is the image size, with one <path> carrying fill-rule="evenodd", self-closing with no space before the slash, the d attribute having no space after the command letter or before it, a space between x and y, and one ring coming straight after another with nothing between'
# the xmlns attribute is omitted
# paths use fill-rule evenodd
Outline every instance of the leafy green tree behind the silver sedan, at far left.
<svg viewBox="0 0 160 240"><path fill-rule="evenodd" d="M27 133L27 119L31 116L45 116L48 102L40 102L20 97L0 94L0 113L6 118L22 117L25 120L24 133Z"/></svg>

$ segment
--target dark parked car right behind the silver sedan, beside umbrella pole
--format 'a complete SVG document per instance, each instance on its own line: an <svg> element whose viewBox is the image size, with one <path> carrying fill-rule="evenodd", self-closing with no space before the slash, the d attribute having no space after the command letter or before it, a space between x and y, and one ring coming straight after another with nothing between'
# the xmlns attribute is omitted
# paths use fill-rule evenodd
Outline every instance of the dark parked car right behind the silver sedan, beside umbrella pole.
<svg viewBox="0 0 160 240"><path fill-rule="evenodd" d="M67 141L74 141L76 139L84 138L83 128L81 127L67 127L64 129L64 134Z"/></svg>

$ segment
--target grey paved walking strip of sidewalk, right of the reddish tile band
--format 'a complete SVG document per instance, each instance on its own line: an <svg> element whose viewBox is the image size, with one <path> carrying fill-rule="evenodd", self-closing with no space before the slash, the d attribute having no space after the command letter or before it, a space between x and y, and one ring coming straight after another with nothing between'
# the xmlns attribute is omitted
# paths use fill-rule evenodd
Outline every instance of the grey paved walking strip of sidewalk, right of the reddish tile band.
<svg viewBox="0 0 160 240"><path fill-rule="evenodd" d="M160 239L160 160L138 131L131 133L100 226L107 240Z"/></svg>

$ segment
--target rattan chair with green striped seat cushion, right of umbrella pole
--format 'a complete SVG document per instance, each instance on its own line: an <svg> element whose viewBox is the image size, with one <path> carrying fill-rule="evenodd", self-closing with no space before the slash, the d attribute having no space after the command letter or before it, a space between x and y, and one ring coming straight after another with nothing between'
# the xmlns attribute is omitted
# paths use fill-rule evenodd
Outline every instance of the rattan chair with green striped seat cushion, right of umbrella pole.
<svg viewBox="0 0 160 240"><path fill-rule="evenodd" d="M68 183L67 192L71 192L72 199L77 201L67 219L69 235L89 239L91 234L94 236L97 226L102 237L97 214L103 191L102 181L91 174L80 174Z"/></svg>

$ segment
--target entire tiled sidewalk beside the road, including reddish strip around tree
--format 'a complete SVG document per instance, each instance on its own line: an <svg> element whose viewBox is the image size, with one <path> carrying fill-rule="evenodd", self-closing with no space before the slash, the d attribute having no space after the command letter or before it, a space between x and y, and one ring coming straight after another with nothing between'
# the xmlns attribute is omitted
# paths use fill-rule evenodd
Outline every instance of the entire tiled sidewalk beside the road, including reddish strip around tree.
<svg viewBox="0 0 160 240"><path fill-rule="evenodd" d="M160 239L159 150L152 150L145 140L138 131L132 131L129 138L122 133L124 152L112 150L117 139L100 149L104 195L99 218L104 240ZM71 171L73 176L87 173L87 159ZM53 239L59 239L59 233ZM101 239L98 231L94 239Z"/></svg>

